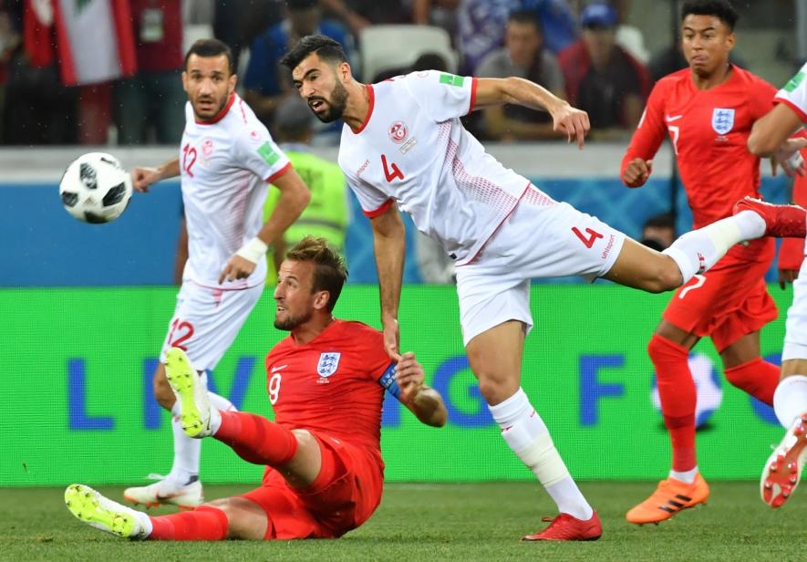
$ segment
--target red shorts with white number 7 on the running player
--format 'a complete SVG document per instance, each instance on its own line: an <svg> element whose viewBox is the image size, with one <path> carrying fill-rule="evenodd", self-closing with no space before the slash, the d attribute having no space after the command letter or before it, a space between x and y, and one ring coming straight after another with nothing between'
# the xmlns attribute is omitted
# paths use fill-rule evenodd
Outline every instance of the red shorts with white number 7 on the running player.
<svg viewBox="0 0 807 562"><path fill-rule="evenodd" d="M759 330L778 316L765 285L775 248L772 238L735 245L709 271L679 287L662 317L701 338L709 336L718 352Z"/></svg>

